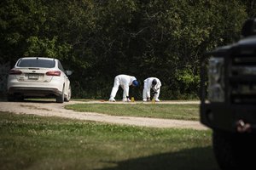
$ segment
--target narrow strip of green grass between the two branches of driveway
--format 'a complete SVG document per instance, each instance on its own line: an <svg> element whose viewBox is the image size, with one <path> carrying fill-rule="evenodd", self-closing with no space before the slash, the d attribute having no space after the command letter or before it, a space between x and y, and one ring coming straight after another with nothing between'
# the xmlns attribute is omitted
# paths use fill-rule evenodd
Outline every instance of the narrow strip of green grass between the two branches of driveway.
<svg viewBox="0 0 256 170"><path fill-rule="evenodd" d="M113 116L143 116L199 121L198 104L75 104L66 105L65 108Z"/></svg>

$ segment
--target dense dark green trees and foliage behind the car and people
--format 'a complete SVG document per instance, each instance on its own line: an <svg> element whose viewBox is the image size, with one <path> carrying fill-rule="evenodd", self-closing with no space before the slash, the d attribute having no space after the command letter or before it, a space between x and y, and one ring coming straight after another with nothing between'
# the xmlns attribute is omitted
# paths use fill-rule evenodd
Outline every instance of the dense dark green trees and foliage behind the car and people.
<svg viewBox="0 0 256 170"><path fill-rule="evenodd" d="M2 0L0 64L61 59L80 98L108 99L119 74L159 77L160 99L195 97L202 54L236 41L253 16L253 0Z"/></svg>

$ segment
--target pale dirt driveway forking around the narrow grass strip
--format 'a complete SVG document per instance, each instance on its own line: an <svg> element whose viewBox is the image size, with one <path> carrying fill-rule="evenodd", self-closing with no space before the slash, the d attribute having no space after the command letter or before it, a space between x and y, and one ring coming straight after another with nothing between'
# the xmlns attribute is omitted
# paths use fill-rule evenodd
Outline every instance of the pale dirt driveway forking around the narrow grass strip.
<svg viewBox="0 0 256 170"><path fill-rule="evenodd" d="M93 112L77 112L64 109L65 105L83 103L81 101L70 101L63 104L57 104L54 101L26 101L26 102L0 102L0 111L9 111L17 114L32 114L38 116L61 116L71 119L79 119L85 121L108 122L116 124L126 124L132 126L144 127L177 127L177 128L193 128L197 130L206 130L207 127L200 122L181 121L160 118L147 118L136 116L108 116L101 113ZM109 103L102 101L89 101L86 103ZM188 104L198 103L198 101L162 101L160 104ZM123 102L112 102L113 105L123 104Z"/></svg>

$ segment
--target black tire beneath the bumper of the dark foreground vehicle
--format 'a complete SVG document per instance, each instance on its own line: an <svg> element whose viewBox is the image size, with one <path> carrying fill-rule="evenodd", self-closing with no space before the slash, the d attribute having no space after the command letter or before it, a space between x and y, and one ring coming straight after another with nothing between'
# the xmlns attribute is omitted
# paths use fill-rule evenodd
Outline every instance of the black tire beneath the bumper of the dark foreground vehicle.
<svg viewBox="0 0 256 170"><path fill-rule="evenodd" d="M222 170L254 167L255 142L255 133L212 133L214 155Z"/></svg>

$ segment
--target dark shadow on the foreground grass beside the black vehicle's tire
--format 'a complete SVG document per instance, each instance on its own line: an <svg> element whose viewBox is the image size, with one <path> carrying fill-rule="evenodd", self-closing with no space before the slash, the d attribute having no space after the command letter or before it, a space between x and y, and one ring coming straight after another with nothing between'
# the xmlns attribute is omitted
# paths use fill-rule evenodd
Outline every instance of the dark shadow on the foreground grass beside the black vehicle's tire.
<svg viewBox="0 0 256 170"><path fill-rule="evenodd" d="M213 157L212 147L193 148L111 163L117 166L102 170L219 170Z"/></svg>

